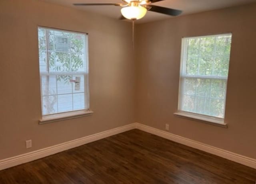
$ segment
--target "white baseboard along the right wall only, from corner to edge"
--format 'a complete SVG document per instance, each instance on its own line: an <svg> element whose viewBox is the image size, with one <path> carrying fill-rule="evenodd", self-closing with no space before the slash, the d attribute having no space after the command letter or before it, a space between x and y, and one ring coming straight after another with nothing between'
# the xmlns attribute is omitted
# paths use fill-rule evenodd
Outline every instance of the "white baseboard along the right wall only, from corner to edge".
<svg viewBox="0 0 256 184"><path fill-rule="evenodd" d="M184 137L181 137L179 135L175 135L172 133L168 133L166 131L162 131L153 127L149 127L140 123L136 123L136 128L140 129L142 131L146 131L148 133L152 133L154 135L158 135L159 137L163 137L165 139L169 139L171 141L180 143L182 145L186 145L192 148L196 148L202 151L205 151L207 153L211 153L213 155L217 155L219 157L228 159L230 161L238 162L240 164L252 167L256 169L256 159L252 159L249 157L245 157L243 155L238 155L236 153L232 153L230 151L226 151L224 149L219 149L210 145L206 145L204 143L200 143L197 141L193 141L191 139L187 139Z"/></svg>

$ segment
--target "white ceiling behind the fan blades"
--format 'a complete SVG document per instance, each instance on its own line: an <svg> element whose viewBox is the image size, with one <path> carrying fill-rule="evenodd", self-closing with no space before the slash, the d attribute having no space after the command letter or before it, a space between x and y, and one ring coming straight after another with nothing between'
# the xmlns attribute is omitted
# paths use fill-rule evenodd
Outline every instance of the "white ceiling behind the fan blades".
<svg viewBox="0 0 256 184"><path fill-rule="evenodd" d="M94 12L102 14L104 16L118 19L121 15L118 6L73 6L73 3L122 3L122 0L41 0L44 2L50 2L54 4L60 4L88 12ZM198 12L204 12L208 10L216 10L220 8L226 8L231 6L238 6L242 4L249 4L256 2L256 0L163 0L154 3L157 6L164 6L167 8L174 8L182 10L182 15L193 14ZM136 23L152 22L156 20L163 20L170 18L164 14L148 11L146 16L141 20L137 20Z"/></svg>

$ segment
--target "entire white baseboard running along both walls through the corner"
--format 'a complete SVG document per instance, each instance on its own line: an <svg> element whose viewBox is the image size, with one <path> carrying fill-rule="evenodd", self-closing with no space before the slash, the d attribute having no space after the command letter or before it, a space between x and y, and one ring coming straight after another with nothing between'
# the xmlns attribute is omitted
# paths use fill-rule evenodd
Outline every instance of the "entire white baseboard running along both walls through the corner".
<svg viewBox="0 0 256 184"><path fill-rule="evenodd" d="M86 137L82 137L80 139L75 139L72 141L68 141L66 143L54 145L52 147L47 147L44 149L40 149L37 151L32 151L30 153L25 153L22 155L18 155L15 157L11 157L8 159L0 160L0 170L20 165L26 162L34 161L36 159L41 159L43 157L47 157L49 155L53 155L74 147L78 147L87 143L91 143L100 139L104 139L106 137L110 137L112 135L116 135L118 133L122 133L125 131L129 131L132 129L140 129L142 131L152 133L154 135L158 135L159 137L163 137L165 139L169 139L171 141L196 148L202 151L205 151L207 153L211 153L213 155L217 155L219 157L223 157L225 159L238 162L240 164L244 164L246 166L252 167L256 169L256 159L252 159L249 157L244 157L242 155L238 155L236 153L232 153L230 151L226 151L224 149L219 149L216 147L212 147L210 145L206 145L197 141L193 141L191 139L187 139L178 135L174 135L172 133L168 133L166 131L162 131L153 127L149 127L140 123L132 123L130 125L125 125L122 127L114 128L111 130L103 131L100 133L96 133L94 135L89 135Z"/></svg>

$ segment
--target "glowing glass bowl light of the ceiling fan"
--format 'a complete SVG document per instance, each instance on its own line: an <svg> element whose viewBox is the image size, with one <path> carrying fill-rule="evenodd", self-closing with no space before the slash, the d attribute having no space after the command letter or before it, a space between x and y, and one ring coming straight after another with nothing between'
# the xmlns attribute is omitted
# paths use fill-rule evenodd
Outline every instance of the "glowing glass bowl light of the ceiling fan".
<svg viewBox="0 0 256 184"><path fill-rule="evenodd" d="M126 6L121 9L121 13L127 19L138 20L146 15L147 9L142 6Z"/></svg>

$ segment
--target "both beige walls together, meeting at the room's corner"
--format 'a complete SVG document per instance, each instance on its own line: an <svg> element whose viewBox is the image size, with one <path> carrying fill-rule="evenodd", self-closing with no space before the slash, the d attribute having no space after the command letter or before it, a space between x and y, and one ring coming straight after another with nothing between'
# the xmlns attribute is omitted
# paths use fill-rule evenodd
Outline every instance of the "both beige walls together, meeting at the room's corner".
<svg viewBox="0 0 256 184"><path fill-rule="evenodd" d="M0 0L0 160L133 122L162 130L169 123L171 133L255 159L255 17L256 4L136 25L134 59L130 23L37 0ZM38 25L89 33L93 115L38 125ZM228 129L174 117L181 38L225 32L233 33Z"/></svg>

